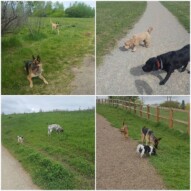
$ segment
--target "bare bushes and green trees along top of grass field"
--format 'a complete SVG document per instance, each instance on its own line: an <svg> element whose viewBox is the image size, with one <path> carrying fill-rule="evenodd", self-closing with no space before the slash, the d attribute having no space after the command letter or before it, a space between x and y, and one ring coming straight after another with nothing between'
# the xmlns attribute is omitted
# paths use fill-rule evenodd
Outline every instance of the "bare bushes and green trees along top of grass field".
<svg viewBox="0 0 191 191"><path fill-rule="evenodd" d="M1 1L1 34L12 32L25 24L28 17L91 18L95 9L82 2L71 3L64 8L63 2L51 1Z"/></svg>

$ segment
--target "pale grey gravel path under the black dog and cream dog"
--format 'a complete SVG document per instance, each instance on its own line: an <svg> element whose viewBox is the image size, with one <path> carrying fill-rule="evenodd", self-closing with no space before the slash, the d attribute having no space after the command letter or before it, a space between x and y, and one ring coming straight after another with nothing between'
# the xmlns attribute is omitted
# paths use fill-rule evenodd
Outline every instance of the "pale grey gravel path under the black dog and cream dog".
<svg viewBox="0 0 191 191"><path fill-rule="evenodd" d="M122 51L128 38L146 31L149 26L154 28L149 48L139 46L136 52ZM189 33L171 13L160 2L148 1L139 22L97 68L97 95L189 94L190 75L187 72L175 71L167 83L160 86L159 81L166 76L165 72L147 74L141 69L150 57L178 50L189 42Z"/></svg>

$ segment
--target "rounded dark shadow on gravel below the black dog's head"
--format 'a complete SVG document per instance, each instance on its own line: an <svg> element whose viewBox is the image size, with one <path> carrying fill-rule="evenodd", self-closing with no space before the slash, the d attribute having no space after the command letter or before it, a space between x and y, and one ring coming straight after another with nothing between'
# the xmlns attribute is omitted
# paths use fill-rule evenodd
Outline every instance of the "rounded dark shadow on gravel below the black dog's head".
<svg viewBox="0 0 191 191"><path fill-rule="evenodd" d="M139 94L143 95L146 93L147 95L152 95L153 93L153 90L149 84L143 80L135 80L135 86Z"/></svg>

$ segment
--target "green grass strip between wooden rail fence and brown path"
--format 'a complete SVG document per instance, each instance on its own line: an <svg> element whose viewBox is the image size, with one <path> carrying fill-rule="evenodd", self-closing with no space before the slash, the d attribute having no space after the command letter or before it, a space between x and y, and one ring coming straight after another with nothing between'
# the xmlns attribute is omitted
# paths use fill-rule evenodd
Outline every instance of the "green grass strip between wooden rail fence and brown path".
<svg viewBox="0 0 191 191"><path fill-rule="evenodd" d="M157 137L162 137L157 157L150 157L149 162L156 168L167 189L190 189L190 140L187 134L109 105L98 104L97 112L116 128L120 128L125 119L130 137L137 142L141 140L140 131L143 126L152 129Z"/></svg>

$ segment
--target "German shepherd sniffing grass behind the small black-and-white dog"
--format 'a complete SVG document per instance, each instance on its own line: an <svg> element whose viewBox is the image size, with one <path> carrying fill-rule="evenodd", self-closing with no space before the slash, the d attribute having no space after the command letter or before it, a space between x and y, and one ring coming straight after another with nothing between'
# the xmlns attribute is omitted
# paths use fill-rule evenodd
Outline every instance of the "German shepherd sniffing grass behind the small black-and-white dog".
<svg viewBox="0 0 191 191"><path fill-rule="evenodd" d="M146 145L148 145L148 143L151 143L156 149L158 149L159 141L162 138L156 138L152 130L143 127L141 130L141 139L142 143L144 142L144 140L146 140Z"/></svg>

